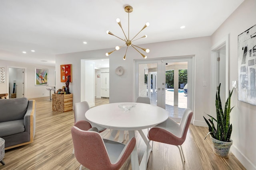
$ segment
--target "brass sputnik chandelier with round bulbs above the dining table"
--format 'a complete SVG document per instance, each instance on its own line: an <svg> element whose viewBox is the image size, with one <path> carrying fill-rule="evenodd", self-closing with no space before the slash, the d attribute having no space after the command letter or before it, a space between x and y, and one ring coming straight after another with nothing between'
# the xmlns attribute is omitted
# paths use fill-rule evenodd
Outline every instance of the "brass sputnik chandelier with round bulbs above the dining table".
<svg viewBox="0 0 256 170"><path fill-rule="evenodd" d="M140 37L140 38L138 38L138 39L134 39L143 29L145 29L146 27L149 26L149 23L147 22L147 23L144 25L144 27L130 40L130 25L129 25L129 24L130 24L130 23L129 23L129 22L130 22L130 19L129 19L129 14L133 11L133 8L132 8L131 6L126 6L126 7L124 8L124 11L125 11L125 12L128 12L128 37L126 37L126 35L125 35L125 33L124 33L124 30L123 30L123 28L122 28L121 21L120 21L119 18L116 19L116 22L117 22L118 25L121 27L121 29L122 29L122 31L123 31L123 33L124 33L125 39L121 39L120 37L114 35L114 34L113 34L112 32L110 32L110 31L107 31L107 34L114 35L115 37L117 37L117 38L119 38L119 39L121 39L122 41L125 42L125 44L122 45L122 46L116 46L116 49L114 50L114 51L119 50L120 48L122 48L122 47L124 47L124 46L126 45L126 46L127 46L127 47L126 47L126 52L125 52L125 55L124 55L124 58L123 58L123 59L125 60L125 59L126 59L126 53L127 53L128 47L133 47L136 51L138 51L138 49L136 49L136 47L137 47L137 48L142 49L142 50L145 51L146 53L149 52L149 49L144 49L144 48L138 47L137 45L134 45L134 44L133 44L134 41L136 41L136 40L138 40L138 39L141 39L141 38L146 38L146 37L147 37L147 35L143 35L142 37ZM106 53L106 56L110 55L110 54L113 53L114 51L110 51L109 53ZM138 53L140 53L140 51L138 51ZM142 53L140 53L140 55L142 55L142 57L143 57L144 59L147 58L147 56L144 55L144 54L142 54Z"/></svg>

